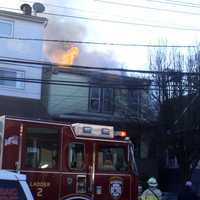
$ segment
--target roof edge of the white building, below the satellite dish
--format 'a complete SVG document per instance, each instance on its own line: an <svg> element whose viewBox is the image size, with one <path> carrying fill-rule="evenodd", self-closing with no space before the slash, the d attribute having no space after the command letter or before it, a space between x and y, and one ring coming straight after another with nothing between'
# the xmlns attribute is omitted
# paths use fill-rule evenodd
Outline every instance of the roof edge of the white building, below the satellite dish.
<svg viewBox="0 0 200 200"><path fill-rule="evenodd" d="M0 10L0 16L1 17L6 17L6 18L11 18L11 19L19 19L19 20L24 20L24 21L31 21L31 22L36 22L36 23L47 23L47 18L44 17L38 17L34 15L25 15L23 13L17 13L17 12L11 12L11 11L6 11L6 10Z"/></svg>

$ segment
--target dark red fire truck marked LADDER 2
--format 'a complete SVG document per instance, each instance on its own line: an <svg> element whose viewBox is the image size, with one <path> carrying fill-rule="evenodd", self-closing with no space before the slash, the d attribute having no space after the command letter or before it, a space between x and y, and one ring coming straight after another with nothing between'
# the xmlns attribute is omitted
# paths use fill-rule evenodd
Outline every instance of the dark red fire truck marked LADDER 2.
<svg viewBox="0 0 200 200"><path fill-rule="evenodd" d="M36 200L136 200L133 144L112 126L0 117L0 168Z"/></svg>

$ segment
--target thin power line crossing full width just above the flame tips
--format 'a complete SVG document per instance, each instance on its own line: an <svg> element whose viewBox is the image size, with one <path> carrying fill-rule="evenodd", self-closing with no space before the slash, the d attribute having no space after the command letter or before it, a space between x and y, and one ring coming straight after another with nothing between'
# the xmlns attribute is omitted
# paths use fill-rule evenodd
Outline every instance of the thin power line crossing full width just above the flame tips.
<svg viewBox="0 0 200 200"><path fill-rule="evenodd" d="M200 30L200 29L199 29ZM38 41L53 43L73 43L73 44L89 44L89 45L106 45L106 46L127 46L127 47L162 47L162 48L196 48L198 45L157 45L157 44L136 44L136 43L114 43L114 42L94 42L80 40L59 40L59 39L42 39L42 38L24 38L24 37L6 37L0 36L0 39L22 40L22 41Z"/></svg>

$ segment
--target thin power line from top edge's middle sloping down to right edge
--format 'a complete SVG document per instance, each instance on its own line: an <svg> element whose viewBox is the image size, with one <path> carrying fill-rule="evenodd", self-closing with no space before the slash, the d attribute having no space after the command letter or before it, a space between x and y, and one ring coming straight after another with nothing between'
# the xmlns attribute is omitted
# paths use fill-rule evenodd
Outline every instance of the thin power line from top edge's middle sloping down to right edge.
<svg viewBox="0 0 200 200"><path fill-rule="evenodd" d="M159 11L159 12L163 12L164 11L164 12L173 12L173 13L187 14L187 15L198 15L198 16L200 15L199 13L194 13L194 12L171 10L171 9L164 9L164 8L155 8L155 7L142 6L142 5L129 4L129 3L120 3L120 2L114 2L114 1L108 1L108 0L94 0L94 1L99 1L99 2L102 2L102 3L119 5L119 6L156 10L156 11Z"/></svg>

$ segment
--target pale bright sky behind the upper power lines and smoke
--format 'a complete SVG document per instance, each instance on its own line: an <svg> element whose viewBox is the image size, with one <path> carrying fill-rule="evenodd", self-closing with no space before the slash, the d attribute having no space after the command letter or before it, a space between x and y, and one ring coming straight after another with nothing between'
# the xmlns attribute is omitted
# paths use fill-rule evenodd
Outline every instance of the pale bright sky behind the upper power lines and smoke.
<svg viewBox="0 0 200 200"><path fill-rule="evenodd" d="M0 0L0 7L19 8L24 2ZM80 46L78 64L118 65L129 69L148 69L147 47L105 45L105 43L196 45L200 41L200 0L40 0L49 16L47 34L51 39L93 41L104 45ZM0 8L2 9L2 8ZM83 19L84 18L84 19ZM91 18L93 20L91 20ZM164 28L165 27L165 28ZM168 27L168 28L166 28ZM50 31L49 31L50 32ZM115 66L113 66L115 67Z"/></svg>

